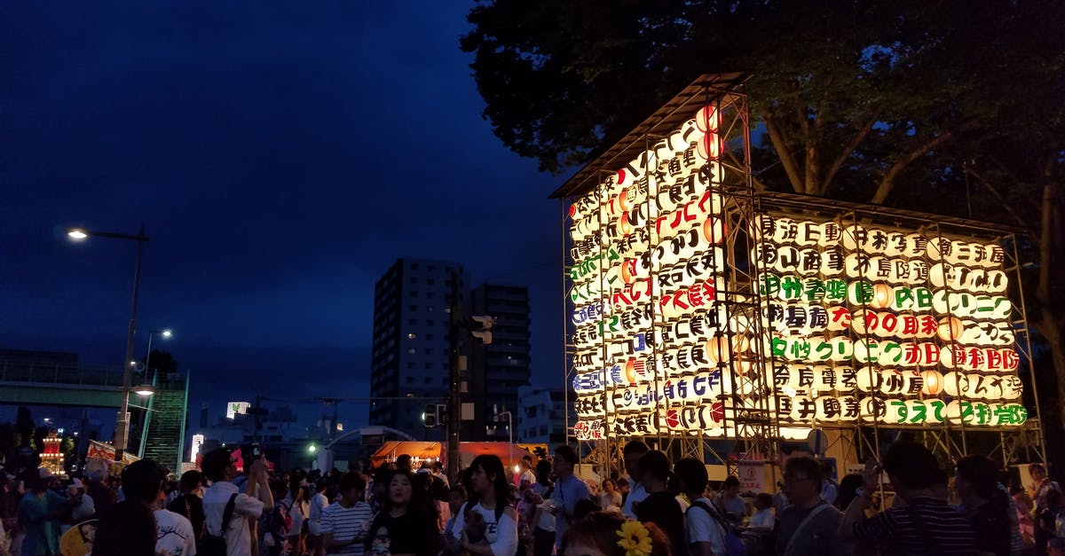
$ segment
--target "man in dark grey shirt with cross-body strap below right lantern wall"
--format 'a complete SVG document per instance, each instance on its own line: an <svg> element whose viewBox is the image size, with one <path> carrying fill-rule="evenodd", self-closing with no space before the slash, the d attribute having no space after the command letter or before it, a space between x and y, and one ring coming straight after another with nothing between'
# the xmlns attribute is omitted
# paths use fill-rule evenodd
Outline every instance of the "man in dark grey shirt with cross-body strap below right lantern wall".
<svg viewBox="0 0 1065 556"><path fill-rule="evenodd" d="M788 458L784 464L784 495L788 507L776 524L777 555L806 556L849 554L849 546L835 539L841 514L821 497L824 477L814 458Z"/></svg>

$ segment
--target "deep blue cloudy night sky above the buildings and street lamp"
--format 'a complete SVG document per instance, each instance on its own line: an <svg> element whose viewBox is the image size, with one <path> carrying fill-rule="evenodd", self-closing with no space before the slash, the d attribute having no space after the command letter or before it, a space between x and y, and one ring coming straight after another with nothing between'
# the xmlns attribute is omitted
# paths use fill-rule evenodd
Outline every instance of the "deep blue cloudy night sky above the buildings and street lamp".
<svg viewBox="0 0 1065 556"><path fill-rule="evenodd" d="M136 244L64 230L144 224L134 353L175 330L153 347L192 372L194 424L368 395L374 282L405 256L528 284L534 382L561 386L563 177L481 119L471 6L5 3L0 347L117 366Z"/></svg>

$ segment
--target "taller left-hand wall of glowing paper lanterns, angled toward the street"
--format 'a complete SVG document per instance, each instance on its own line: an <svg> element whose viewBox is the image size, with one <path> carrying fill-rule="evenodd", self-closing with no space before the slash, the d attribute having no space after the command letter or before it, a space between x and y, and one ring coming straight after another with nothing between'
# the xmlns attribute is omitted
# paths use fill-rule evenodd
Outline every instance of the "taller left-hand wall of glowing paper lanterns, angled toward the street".
<svg viewBox="0 0 1065 556"><path fill-rule="evenodd" d="M725 252L718 112L691 118L570 208L574 431L712 432Z"/></svg>

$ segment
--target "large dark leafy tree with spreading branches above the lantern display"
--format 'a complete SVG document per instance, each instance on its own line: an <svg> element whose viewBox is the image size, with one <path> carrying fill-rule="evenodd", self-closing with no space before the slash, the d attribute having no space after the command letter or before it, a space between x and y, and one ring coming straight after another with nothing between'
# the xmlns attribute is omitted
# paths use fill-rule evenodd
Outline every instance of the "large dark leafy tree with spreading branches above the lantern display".
<svg viewBox="0 0 1065 556"><path fill-rule="evenodd" d="M468 19L484 116L541 169L590 161L700 73L751 70L756 186L1022 226L1065 399L1065 4L496 0Z"/></svg>

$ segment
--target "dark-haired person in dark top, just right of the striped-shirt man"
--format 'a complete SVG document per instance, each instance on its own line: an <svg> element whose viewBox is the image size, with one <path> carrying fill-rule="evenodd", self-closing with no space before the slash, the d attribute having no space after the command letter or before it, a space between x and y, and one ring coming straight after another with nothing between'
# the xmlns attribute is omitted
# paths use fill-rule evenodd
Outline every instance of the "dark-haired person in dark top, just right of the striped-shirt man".
<svg viewBox="0 0 1065 556"><path fill-rule="evenodd" d="M1010 500L998 488L998 467L985 456L966 456L954 468L961 510L976 533L977 546L995 556L1010 554Z"/></svg>

